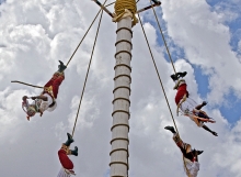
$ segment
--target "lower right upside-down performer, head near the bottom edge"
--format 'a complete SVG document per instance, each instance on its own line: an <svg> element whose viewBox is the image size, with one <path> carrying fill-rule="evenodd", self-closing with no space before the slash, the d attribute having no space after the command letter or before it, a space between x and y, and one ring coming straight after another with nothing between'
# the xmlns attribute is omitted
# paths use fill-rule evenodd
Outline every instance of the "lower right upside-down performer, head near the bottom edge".
<svg viewBox="0 0 241 177"><path fill-rule="evenodd" d="M187 143L184 143L179 134L175 132L173 126L165 126L164 129L171 131L173 133L173 140L175 144L180 147L183 153L184 169L188 177L196 177L199 170L198 155L200 155L204 151L192 150L192 146Z"/></svg>

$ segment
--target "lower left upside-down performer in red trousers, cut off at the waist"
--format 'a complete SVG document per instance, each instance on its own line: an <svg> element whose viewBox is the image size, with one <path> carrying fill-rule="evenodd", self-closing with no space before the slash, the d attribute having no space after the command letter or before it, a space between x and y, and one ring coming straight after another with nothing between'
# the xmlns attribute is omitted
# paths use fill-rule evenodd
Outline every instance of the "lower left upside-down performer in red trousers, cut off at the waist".
<svg viewBox="0 0 241 177"><path fill-rule="evenodd" d="M76 175L73 169L73 164L71 159L69 159L68 155L78 156L78 147L74 146L74 150L69 150L69 146L73 141L71 134L67 133L68 140L66 143L62 143L61 148L58 151L59 162L62 165L62 168L58 173L57 177L70 177L71 175Z"/></svg>

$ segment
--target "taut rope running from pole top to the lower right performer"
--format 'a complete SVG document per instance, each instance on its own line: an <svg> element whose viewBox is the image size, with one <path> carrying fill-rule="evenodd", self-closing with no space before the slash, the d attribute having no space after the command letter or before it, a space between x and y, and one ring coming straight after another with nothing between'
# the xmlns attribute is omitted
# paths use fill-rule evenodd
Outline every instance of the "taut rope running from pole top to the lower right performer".
<svg viewBox="0 0 241 177"><path fill-rule="evenodd" d="M165 90L164 90L164 87L163 87L163 84L162 84L162 80L161 80L161 77L160 77L160 74L159 74L159 70L158 70L158 67L157 67L157 64L156 64L153 54L152 54L151 48L150 48L150 44L149 44L149 42L148 42L147 34L146 34L146 32L145 32L145 29L144 29L144 25L142 25L142 21L141 21L139 14L138 14L138 18L139 18L139 22L140 22L140 25L141 25L141 29L142 29L142 32L144 32L144 35L145 35L145 38L146 38L146 42L147 42L147 45L148 45L148 48L149 48L149 52L150 52L150 55L151 55L153 65L154 65L156 71L157 71L157 74L158 74L159 81L160 81L160 84L161 84L162 91L163 91L163 93L164 93L165 101L167 101L168 107L169 107L169 111L170 111L171 117L172 117L173 124L174 124L175 130L176 130L176 132L177 132L177 134L179 134L179 130L177 130L177 126L176 126L176 124L175 124L175 120L174 120L174 117L173 117L173 113L172 113L172 110L171 110L171 107L170 107L170 103L169 103L169 100L168 100L168 97L167 97L167 93L165 93ZM185 161L184 161L184 157L183 157L183 162L184 162L185 168L187 169L186 163L185 163ZM188 170L187 170L187 173L188 173Z"/></svg>

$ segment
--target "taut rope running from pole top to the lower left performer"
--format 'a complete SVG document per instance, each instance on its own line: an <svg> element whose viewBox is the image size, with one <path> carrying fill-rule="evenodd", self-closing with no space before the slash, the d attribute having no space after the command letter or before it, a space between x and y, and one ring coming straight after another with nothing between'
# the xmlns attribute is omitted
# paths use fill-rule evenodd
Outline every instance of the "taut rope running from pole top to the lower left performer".
<svg viewBox="0 0 241 177"><path fill-rule="evenodd" d="M105 2L107 0L105 0ZM92 58L93 58L93 53L94 53L94 48L95 48L95 44L96 44L96 40L97 40L97 34L99 34L99 30L100 30L100 26L101 26L102 15L103 15L103 10L101 11L100 21L99 21L99 24L97 24L97 31L96 31L96 35L95 35L95 38L94 38L94 44L93 44L92 52L91 52L91 58L90 58L90 62L89 62L89 66L88 66L88 70L87 70L87 75L85 75L85 79L84 79L84 84L83 84L83 89L82 89L82 92L81 92L80 102L79 102L79 107L78 107L78 111L77 111L77 117L76 117L74 125L73 125L73 129L72 129L72 136L73 136L73 133L74 133L74 130L76 130L76 124L77 124L77 120L78 120L78 115L79 115L79 111L80 111L80 106L81 106L81 102L82 102L83 92L84 92L84 89L85 89L91 62L92 62Z"/></svg>

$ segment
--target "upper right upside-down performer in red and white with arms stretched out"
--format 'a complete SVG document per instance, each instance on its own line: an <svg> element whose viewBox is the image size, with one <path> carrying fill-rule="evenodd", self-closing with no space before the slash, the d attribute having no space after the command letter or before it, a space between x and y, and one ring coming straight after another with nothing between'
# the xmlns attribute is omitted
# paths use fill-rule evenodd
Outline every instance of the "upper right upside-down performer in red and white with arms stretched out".
<svg viewBox="0 0 241 177"><path fill-rule="evenodd" d="M207 104L206 101L204 101L202 104L196 104L196 102L190 98L190 93L186 89L187 85L183 79L183 77L185 76L186 76L186 71L171 75L171 78L173 79L173 81L175 81L174 89L177 90L175 95L177 115L179 115L179 109L181 109L183 114L188 117L191 120L193 120L197 124L197 126L202 126L203 129L210 132L215 136L218 136L216 132L211 131L208 126L204 124L204 122L215 123L215 121L211 118L209 118L205 111L200 110L204 106Z"/></svg>

